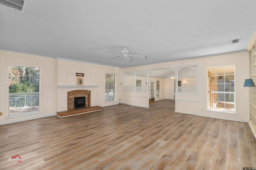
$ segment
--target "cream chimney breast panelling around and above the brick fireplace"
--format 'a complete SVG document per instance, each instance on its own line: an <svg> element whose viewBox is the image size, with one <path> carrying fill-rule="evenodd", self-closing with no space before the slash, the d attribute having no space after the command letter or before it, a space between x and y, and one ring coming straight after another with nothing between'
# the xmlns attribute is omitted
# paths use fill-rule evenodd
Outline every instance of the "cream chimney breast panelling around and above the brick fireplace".
<svg viewBox="0 0 256 170"><path fill-rule="evenodd" d="M84 73L84 85L98 85L97 65L82 63L76 61L67 61L63 59L57 60L57 112L66 111L67 108L67 92L73 90L89 90L91 91L91 106L97 105L98 91L97 87L76 87L76 73ZM66 86L66 87L65 87ZM72 87L74 86L74 87ZM60 88L63 87L63 88Z"/></svg>

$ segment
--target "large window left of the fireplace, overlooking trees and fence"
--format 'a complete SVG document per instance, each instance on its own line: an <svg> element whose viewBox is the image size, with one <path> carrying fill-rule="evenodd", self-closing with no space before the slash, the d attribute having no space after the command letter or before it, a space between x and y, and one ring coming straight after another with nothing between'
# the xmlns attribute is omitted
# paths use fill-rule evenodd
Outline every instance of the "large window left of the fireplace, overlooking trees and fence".
<svg viewBox="0 0 256 170"><path fill-rule="evenodd" d="M39 111L39 68L9 66L9 115Z"/></svg>

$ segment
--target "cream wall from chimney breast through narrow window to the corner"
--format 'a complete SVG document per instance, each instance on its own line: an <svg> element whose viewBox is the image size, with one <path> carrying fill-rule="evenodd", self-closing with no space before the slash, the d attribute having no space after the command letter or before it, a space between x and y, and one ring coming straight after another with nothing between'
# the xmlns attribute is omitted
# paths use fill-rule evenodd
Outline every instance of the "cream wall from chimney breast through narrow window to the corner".
<svg viewBox="0 0 256 170"><path fill-rule="evenodd" d="M76 73L84 73L84 86L77 86ZM116 75L116 101L105 102L105 76ZM91 91L91 106L108 106L119 104L122 99L123 74L119 67L96 65L82 61L64 60L58 58L58 88L57 88L57 112L66 111L67 92L72 90ZM66 87L65 87L66 86ZM71 87L70 87L71 86ZM98 87L94 87L98 86ZM60 88L62 87L62 88ZM122 100L121 100L122 101Z"/></svg>

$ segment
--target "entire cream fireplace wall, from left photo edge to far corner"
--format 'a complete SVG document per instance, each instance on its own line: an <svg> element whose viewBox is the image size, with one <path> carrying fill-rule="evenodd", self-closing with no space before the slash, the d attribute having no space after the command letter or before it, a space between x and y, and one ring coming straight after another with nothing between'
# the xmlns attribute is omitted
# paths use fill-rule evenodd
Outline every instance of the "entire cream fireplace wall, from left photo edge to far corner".
<svg viewBox="0 0 256 170"><path fill-rule="evenodd" d="M40 113L8 119L9 65L40 68ZM76 73L84 73L84 85L77 85ZM116 101L105 102L105 74L116 75ZM123 101L123 73L119 67L96 65L82 61L56 59L38 55L0 50L0 125L56 115L67 110L67 92L86 89L91 91L91 106L108 106ZM98 87L94 87L97 85ZM64 88L60 88L64 87Z"/></svg>

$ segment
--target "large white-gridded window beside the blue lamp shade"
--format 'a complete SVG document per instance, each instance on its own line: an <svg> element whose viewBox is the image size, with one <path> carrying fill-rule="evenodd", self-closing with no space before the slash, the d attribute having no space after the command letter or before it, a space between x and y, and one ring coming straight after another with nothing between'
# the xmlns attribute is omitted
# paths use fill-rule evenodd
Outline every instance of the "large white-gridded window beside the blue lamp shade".
<svg viewBox="0 0 256 170"><path fill-rule="evenodd" d="M208 109L235 112L235 66L208 68Z"/></svg>

